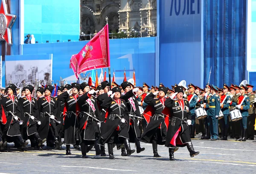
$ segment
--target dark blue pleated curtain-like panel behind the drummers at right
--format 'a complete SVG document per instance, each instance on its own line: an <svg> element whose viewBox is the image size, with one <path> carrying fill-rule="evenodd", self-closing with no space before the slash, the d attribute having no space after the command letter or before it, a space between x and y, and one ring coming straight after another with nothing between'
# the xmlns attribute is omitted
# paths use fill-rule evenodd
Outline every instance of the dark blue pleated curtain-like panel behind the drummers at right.
<svg viewBox="0 0 256 174"><path fill-rule="evenodd" d="M240 84L245 78L245 1L204 0L204 84Z"/></svg>

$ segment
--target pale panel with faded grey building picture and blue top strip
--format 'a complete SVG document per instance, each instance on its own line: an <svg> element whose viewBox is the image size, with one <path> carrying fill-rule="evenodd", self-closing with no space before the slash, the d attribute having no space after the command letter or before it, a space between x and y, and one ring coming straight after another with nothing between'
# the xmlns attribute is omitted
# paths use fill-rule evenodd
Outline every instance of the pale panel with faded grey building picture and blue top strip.
<svg viewBox="0 0 256 174"><path fill-rule="evenodd" d="M46 84L52 79L52 54L44 55L9 55L5 61L5 84L10 81L18 87L33 84L38 79Z"/></svg>

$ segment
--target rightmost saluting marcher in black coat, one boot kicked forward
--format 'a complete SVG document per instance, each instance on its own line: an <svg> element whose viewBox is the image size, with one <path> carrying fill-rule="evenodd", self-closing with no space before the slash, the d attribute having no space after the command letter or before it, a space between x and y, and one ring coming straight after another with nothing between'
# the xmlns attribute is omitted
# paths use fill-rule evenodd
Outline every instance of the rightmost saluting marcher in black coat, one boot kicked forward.
<svg viewBox="0 0 256 174"><path fill-rule="evenodd" d="M195 152L192 145L189 127L192 124L191 114L189 112L189 101L183 99L183 87L175 87L175 93L171 97L166 99L165 106L169 108L172 118L170 118L168 132L166 136L165 146L169 148L170 160L175 160L174 152L177 151L177 147L187 146L190 157L194 157L199 154Z"/></svg>

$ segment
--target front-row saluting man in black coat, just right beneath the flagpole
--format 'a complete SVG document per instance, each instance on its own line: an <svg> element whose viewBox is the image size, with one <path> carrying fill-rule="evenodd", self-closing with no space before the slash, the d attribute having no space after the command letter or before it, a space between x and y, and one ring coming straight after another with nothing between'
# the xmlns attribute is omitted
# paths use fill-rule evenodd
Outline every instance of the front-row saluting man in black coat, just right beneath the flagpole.
<svg viewBox="0 0 256 174"><path fill-rule="evenodd" d="M128 133L128 108L125 100L120 99L121 89L114 87L113 94L102 102L102 108L108 109L108 116L105 125L101 128L101 135L98 144L103 146L108 143L109 159L115 159L113 156L113 143L125 144L127 156L135 152L131 150ZM102 94L103 95L103 94Z"/></svg>

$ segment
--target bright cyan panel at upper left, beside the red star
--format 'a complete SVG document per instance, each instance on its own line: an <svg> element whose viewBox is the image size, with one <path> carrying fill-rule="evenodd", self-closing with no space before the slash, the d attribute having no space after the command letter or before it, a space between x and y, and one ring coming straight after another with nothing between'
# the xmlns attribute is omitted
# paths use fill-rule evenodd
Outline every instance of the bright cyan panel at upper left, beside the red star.
<svg viewBox="0 0 256 174"><path fill-rule="evenodd" d="M79 40L80 0L24 0L24 33L38 43Z"/></svg>

